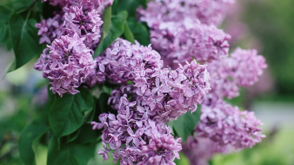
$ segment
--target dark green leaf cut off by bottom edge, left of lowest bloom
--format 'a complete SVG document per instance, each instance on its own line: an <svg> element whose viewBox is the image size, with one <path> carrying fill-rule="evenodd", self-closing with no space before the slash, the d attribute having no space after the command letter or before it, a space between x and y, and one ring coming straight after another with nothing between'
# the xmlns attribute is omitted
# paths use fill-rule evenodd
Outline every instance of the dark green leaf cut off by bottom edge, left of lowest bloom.
<svg viewBox="0 0 294 165"><path fill-rule="evenodd" d="M52 137L48 148L47 165L86 165L93 157L94 149L95 145L74 142L64 144L59 149L57 139Z"/></svg>

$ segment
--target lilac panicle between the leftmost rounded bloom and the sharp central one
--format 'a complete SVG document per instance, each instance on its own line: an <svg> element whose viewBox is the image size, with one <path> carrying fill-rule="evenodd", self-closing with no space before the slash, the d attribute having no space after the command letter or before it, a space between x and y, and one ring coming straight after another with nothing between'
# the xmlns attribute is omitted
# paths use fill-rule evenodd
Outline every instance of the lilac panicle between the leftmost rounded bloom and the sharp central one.
<svg viewBox="0 0 294 165"><path fill-rule="evenodd" d="M93 86L102 83L106 79L114 84L126 84L136 77L136 69L141 63L150 69L160 69L163 61L158 52L149 46L142 46L136 41L135 44L122 38L109 46L104 53L96 57L98 67L96 73L89 77L88 83Z"/></svg>

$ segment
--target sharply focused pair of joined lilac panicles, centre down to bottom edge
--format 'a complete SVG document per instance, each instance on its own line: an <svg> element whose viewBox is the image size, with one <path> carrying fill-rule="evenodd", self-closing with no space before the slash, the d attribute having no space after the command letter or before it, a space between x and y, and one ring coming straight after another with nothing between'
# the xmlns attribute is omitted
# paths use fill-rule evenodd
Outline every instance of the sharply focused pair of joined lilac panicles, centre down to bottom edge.
<svg viewBox="0 0 294 165"><path fill-rule="evenodd" d="M91 123L93 129L104 128L101 139L105 150L98 153L108 159L108 152L115 150L113 157L121 158L121 164L174 164L182 148L166 122L196 110L210 90L209 74L206 66L195 60L179 64L176 70L151 70L145 65L141 63L134 70L135 85L113 90L109 102L115 104L118 115L104 113L99 117L101 122ZM127 91L133 95L126 95Z"/></svg>

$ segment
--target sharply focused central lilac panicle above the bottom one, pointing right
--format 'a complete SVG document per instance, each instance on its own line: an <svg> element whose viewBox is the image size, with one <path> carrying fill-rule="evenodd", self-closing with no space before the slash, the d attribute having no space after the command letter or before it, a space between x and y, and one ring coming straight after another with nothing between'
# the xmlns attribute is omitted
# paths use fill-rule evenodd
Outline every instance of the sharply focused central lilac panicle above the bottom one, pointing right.
<svg viewBox="0 0 294 165"><path fill-rule="evenodd" d="M143 110L156 112L152 119L158 122L176 119L190 110L194 112L210 90L206 66L195 60L184 66L179 64L176 70L151 71L142 64L135 72L136 101Z"/></svg>

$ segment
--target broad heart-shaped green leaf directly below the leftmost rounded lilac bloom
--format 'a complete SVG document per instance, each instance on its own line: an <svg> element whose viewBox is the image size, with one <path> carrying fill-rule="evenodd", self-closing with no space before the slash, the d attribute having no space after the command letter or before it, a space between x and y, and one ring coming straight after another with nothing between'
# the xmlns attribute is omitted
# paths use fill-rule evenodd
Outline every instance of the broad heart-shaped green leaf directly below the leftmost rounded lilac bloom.
<svg viewBox="0 0 294 165"><path fill-rule="evenodd" d="M50 127L59 138L76 131L83 124L85 113L93 110L94 99L90 90L79 89L76 95L56 95L49 112Z"/></svg>

